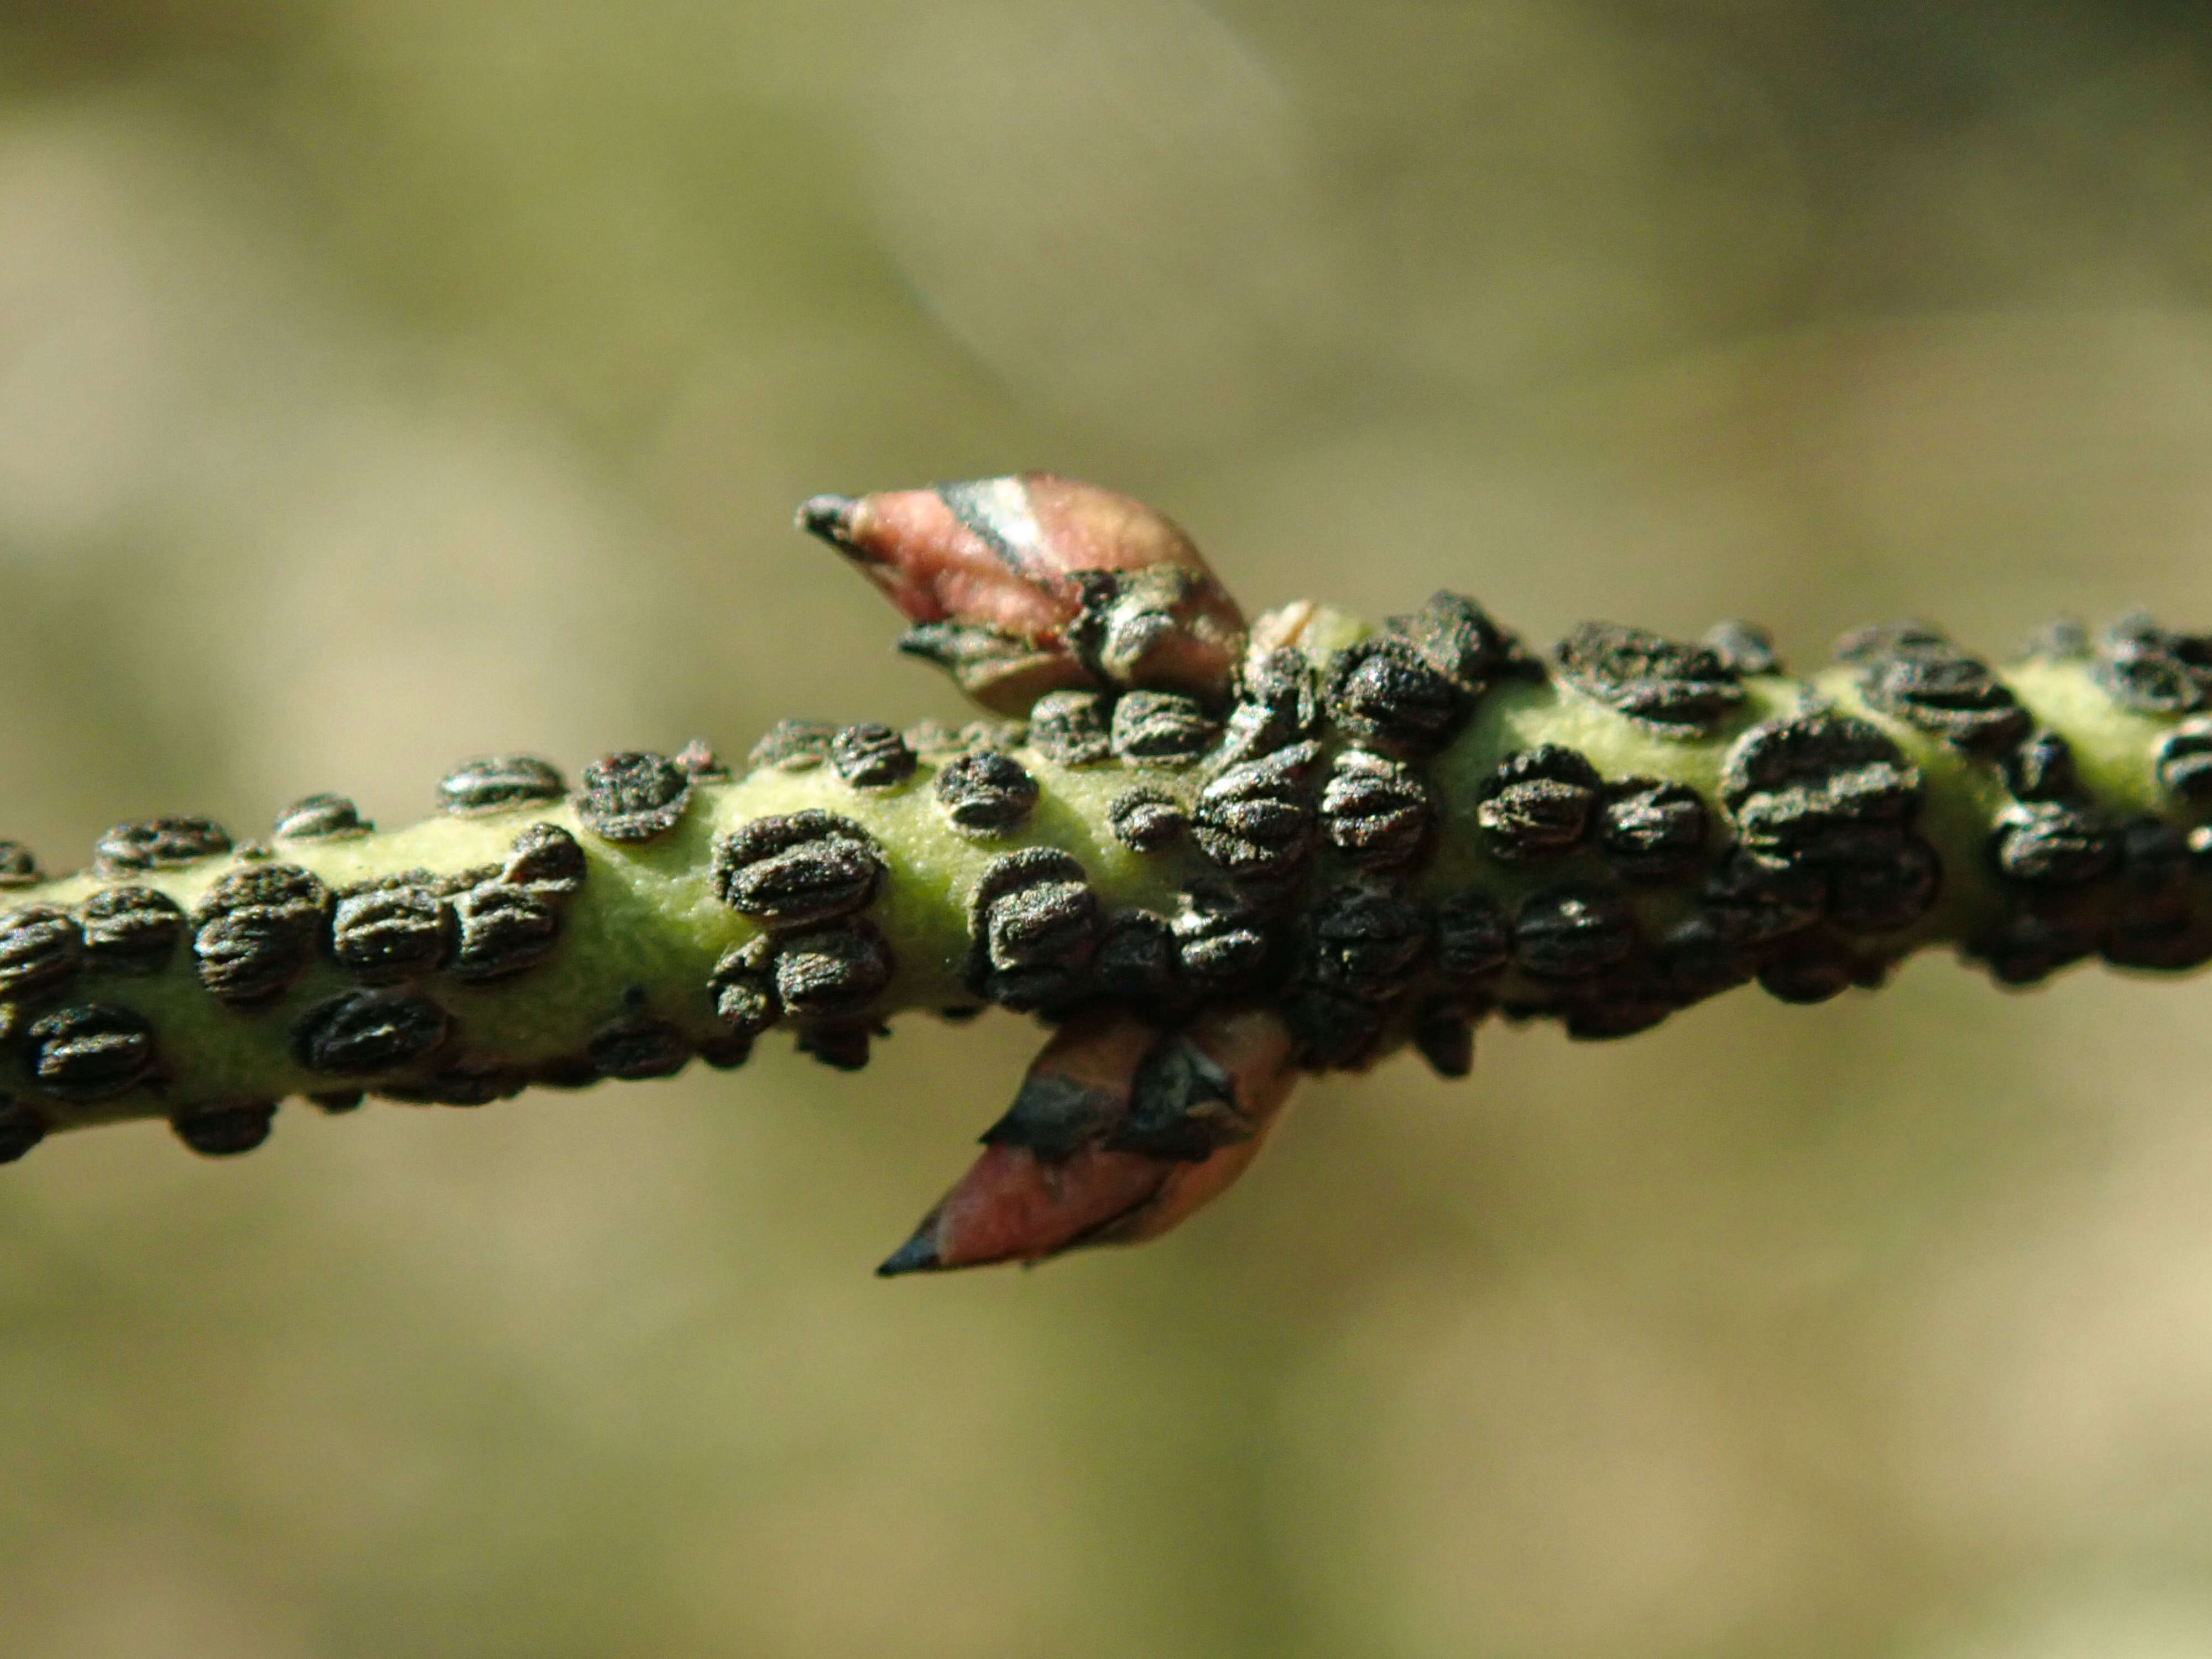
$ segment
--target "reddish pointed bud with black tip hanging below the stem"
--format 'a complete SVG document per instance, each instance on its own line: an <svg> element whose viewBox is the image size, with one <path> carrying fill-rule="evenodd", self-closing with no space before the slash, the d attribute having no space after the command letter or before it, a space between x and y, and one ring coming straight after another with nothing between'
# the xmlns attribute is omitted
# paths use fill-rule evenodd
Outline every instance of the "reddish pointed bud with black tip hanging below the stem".
<svg viewBox="0 0 2212 1659"><path fill-rule="evenodd" d="M1126 1011L1071 1020L1037 1055L984 1152L876 1272L1044 1261L1157 1239L1259 1155L1296 1073L1259 1009L1161 1031Z"/></svg>

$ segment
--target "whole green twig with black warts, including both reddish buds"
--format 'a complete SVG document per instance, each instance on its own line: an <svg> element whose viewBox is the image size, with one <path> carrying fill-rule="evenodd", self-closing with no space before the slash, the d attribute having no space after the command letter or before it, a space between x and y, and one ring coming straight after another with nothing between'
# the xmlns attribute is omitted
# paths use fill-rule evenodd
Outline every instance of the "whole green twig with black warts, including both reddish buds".
<svg viewBox="0 0 2212 1659"><path fill-rule="evenodd" d="M2212 958L2212 637L2053 624L1993 668L1924 624L1792 679L1767 639L1586 624L1548 657L1438 593L1248 624L1183 533L1051 476L801 526L905 613L962 730L785 721L748 765L456 768L376 832L126 823L0 843L0 1161L276 1104L478 1106L737 1066L776 1026L858 1068L905 1011L1053 1035L883 1272L1144 1239L1228 1186L1301 1073L1491 1013L1624 1037L1756 982L1876 987L1949 945L2004 984Z"/></svg>

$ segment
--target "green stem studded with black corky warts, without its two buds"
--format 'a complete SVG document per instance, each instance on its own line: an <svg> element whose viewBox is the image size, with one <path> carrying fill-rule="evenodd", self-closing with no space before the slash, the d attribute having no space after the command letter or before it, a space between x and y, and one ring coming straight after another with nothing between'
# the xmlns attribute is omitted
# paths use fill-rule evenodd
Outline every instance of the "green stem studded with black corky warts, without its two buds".
<svg viewBox="0 0 2212 1659"><path fill-rule="evenodd" d="M1325 677L1332 655L1363 635L1323 613L1301 641ZM1898 661L1898 653L1880 659ZM1573 677L1506 672L1471 699L1431 757L1396 745L1433 796L1433 823L1413 858L1380 869L1307 830L1332 774L1347 776L1338 757L1356 739L1385 759L1394 748L1371 730L1347 730L1340 699L1312 734L1318 754L1283 785L1296 845L1283 854L1290 874L1270 878L1239 874L1219 843L1188 832L1152 852L1115 834L1115 801L1135 785L1186 816L1201 810L1219 750L1148 763L1124 743L1119 757L1068 763L1066 741L1040 748L1013 728L1000 741L1033 779L1035 805L1018 812L1020 801L984 801L971 812L982 832L956 823L938 779L969 765L962 754L989 752L989 734L971 737L982 748L967 750L940 741L931 752L925 741L907 776L876 776L876 787L856 787L849 768L821 754L818 737L801 734L770 745L783 750L781 761L734 781L697 754L688 779L670 763L633 759L613 783L602 776L597 796L586 787L495 805L498 787L471 796L465 776L460 805L489 801L491 810L447 812L389 834L279 834L197 858L181 856L192 852L184 832L161 845L139 836L142 854L153 847L144 869L117 867L144 858L113 843L122 854L106 867L62 878L18 872L0 896L0 1155L29 1150L49 1128L131 1117L168 1117L199 1150L243 1150L265 1133L272 1104L294 1095L330 1108L363 1091L476 1104L529 1082L661 1075L690 1055L734 1064L761 1020L799 1029L825 1060L849 1066L865 1057L867 1033L896 1013L973 1011L993 995L1046 1013L1121 998L1166 1015L1272 1000L1290 1009L1312 1066L1369 1064L1411 1040L1455 1071L1455 1033L1491 1009L1566 1018L1577 1035L1619 1035L1750 973L1792 1000L1818 1000L1845 982L1878 982L1887 964L1929 945L1964 947L2008 980L2039 978L2095 949L2135 967L2212 956L2203 836L2188 834L2203 810L2177 790L2201 787L2188 768L2194 723L2130 706L2141 699L2117 695L2110 668L2086 653L2028 657L2002 670L1991 681L2000 690L1982 703L2011 692L2026 710L2022 728L2062 739L2073 781L2039 785L2022 770L2017 732L1997 748L1960 748L1924 730L1927 719L1896 712L1896 699L1869 701L1867 675L1863 664L1812 681L1732 672L1741 701L1681 737L1617 712L1619 699L1590 695ZM1942 706L1940 695L1933 703ZM1860 785L1849 779L1867 757L1829 752L1834 743L1747 794L1747 745L1809 710L1829 739L1865 728L1887 739L1893 759L1876 765L1891 765L1905 794L1874 805L1854 796ZM1075 714L1084 714L1079 699ZM1283 739L1245 748L1281 757ZM1608 787L1575 796L1582 785L1571 776L1537 776L1535 794L1498 807L1502 785L1517 776L1500 774L1500 763L1546 745L1579 754ZM898 745L889 748L902 763ZM498 785L498 768L489 776ZM1679 867L1661 878L1639 880L1648 869L1621 849L1628 843L1608 841L1604 803L1628 779L1686 785L1703 805L1697 845L1668 854ZM557 790L540 779L522 794L533 787L540 796ZM641 832L637 818L608 818L613 807L641 812L644 830L655 827L655 805L670 816L655 787L679 792L672 827L644 841L602 834L611 823ZM1245 790L1243 803L1254 799ZM1000 807L1002 832L991 834ZM1577 807L1595 812L1582 830ZM774 827L807 812L843 821L832 841L860 847L863 863L872 845L880 872L869 880L863 869L858 889L823 900L816 911L827 914L812 918L763 909L752 902L759 894L745 900L752 889L732 905L732 876L750 869L757 887L776 889L783 878L763 858L794 845L805 865L807 847L823 845L803 838L821 830L812 818L761 838L763 821ZM1544 830L1546 812L1564 814L1553 830ZM327 807L290 823L343 830L345 814ZM518 836L538 825L573 838L580 880L560 867L571 843L542 830L518 863ZM1544 845L1553 832L1566 841ZM743 843L745 834L757 841ZM759 858L745 863L739 843ZM1763 863L1745 858L1747 845L1765 849ZM2000 858L2006 845L2011 874ZM1022 849L1053 849L1073 865L1002 863ZM1927 854L1933 869L1916 865ZM1767 887L1730 898L1730 872ZM796 867L783 885L812 891L814 876ZM1933 896L1898 900L1920 876L1936 883ZM1796 898L1785 891L1792 878ZM376 907L358 902L378 883L416 905L398 905L385 936L372 927ZM1020 900L1013 911L987 902L978 914L978 887L989 894L993 883ZM166 951L159 900L135 900L153 911L128 938L113 918L102 929L102 907L86 909L117 889L173 900L181 925L170 925ZM1809 914L1805 891L1814 891ZM1867 902L1880 911L1885 894L1891 911L1869 920ZM1411 940L1394 916L1413 918ZM1495 960L1475 960L1486 949L1484 918L1502 929ZM1630 933L1608 938L1621 918ZM1230 938L1239 933L1241 956ZM352 953L334 940L349 940ZM365 953L387 945L396 956L365 971ZM1166 958L1146 958L1148 949ZM887 969L880 987L869 978L878 969Z"/></svg>

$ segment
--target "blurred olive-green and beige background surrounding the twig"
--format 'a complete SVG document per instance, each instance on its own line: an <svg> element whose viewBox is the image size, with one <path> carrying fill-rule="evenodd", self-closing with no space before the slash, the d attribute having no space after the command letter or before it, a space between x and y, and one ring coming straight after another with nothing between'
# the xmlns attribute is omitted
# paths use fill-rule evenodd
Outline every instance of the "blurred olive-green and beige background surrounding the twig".
<svg viewBox="0 0 2212 1659"><path fill-rule="evenodd" d="M0 810L953 714L787 529L1053 467L1250 606L2212 622L2154 0L0 0ZM9 1659L2212 1650L2212 980L1307 1091L869 1267L1035 1037L0 1175Z"/></svg>

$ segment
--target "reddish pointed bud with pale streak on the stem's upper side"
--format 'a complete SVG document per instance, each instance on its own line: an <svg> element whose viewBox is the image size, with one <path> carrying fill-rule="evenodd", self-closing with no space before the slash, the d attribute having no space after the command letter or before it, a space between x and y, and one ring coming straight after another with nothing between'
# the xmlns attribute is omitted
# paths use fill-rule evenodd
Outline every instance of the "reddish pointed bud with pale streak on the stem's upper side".
<svg viewBox="0 0 2212 1659"><path fill-rule="evenodd" d="M1000 714L1086 686L1221 701L1243 653L1243 613L1172 520L1053 473L816 495L799 526L914 624L902 648Z"/></svg>

